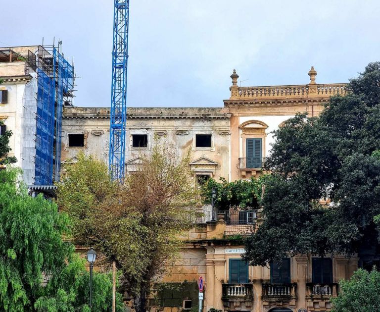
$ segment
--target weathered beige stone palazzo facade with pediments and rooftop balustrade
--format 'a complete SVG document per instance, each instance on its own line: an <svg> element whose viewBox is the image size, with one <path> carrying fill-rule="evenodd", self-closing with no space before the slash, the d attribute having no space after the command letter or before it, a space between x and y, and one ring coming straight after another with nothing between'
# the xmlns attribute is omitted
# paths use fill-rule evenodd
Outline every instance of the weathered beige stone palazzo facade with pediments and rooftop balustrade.
<svg viewBox="0 0 380 312"><path fill-rule="evenodd" d="M157 135L174 143L180 154L190 149L189 166L194 178L208 175L217 180L223 177L234 181L259 176L274 142L272 131L297 112L317 116L330 96L345 92L345 84L317 84L313 67L308 74L310 82L305 85L238 87L238 74L234 71L231 97L221 108L128 108L127 174L136 170L139 156L149 153L153 137ZM75 162L80 151L107 162L109 123L109 108L65 107L63 163ZM70 135L81 136L79 146L70 144ZM197 135L211 135L209 146L198 148ZM146 139L143 146L134 146L134 136ZM247 157L252 140L260 144L256 146L259 161L258 156ZM205 211L209 209L204 207ZM261 212L251 213L259 224ZM243 279L234 280L234 265L244 252L242 237L247 229L255 229L248 217L245 220L239 226L228 224L224 214L219 214L216 221L207 215L197 220L198 224L183 234L186 247L182 259L173 263L168 274L153 285L150 311L195 312L198 305L195 286L200 275L205 281L204 312L210 308L225 312L269 312L274 308L292 312L331 311L330 297L339 291L337 282L352 275L358 259L328 255L332 280L321 285L313 283L311 255L289 260L289 280L285 284L273 282L272 269L262 266L249 266L246 279L242 275ZM239 270L245 269L243 264L238 265Z"/></svg>

